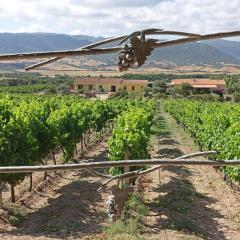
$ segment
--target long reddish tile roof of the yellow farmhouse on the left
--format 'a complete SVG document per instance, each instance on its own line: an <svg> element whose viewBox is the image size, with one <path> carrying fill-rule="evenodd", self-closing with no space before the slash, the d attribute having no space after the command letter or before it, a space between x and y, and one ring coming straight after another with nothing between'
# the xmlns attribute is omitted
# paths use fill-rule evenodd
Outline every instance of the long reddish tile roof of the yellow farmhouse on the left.
<svg viewBox="0 0 240 240"><path fill-rule="evenodd" d="M135 80L135 79L121 79L121 78L76 78L74 84L122 84L122 85L131 85L131 84L142 84L147 85L148 80Z"/></svg>

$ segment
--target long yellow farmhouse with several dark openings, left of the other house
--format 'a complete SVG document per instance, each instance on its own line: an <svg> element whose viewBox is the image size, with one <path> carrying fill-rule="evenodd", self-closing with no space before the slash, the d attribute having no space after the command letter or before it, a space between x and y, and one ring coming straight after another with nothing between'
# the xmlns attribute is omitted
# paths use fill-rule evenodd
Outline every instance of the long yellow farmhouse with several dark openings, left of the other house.
<svg viewBox="0 0 240 240"><path fill-rule="evenodd" d="M148 80L125 80L121 78L76 78L73 91L88 93L96 91L101 93L117 92L119 90L141 91L148 85Z"/></svg>

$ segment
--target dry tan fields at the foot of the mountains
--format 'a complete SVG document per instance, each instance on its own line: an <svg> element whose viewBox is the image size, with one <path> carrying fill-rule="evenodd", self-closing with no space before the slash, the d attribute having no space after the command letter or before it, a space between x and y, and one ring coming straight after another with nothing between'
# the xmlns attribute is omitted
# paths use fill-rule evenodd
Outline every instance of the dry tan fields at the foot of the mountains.
<svg viewBox="0 0 240 240"><path fill-rule="evenodd" d="M57 64L46 66L44 69L36 69L33 72L38 72L43 75L56 75L56 74L67 74L73 77L76 76L104 76L104 77L113 77L113 76L122 76L124 72L119 72L116 66L111 67L100 67L99 64L101 62L89 60L84 62L86 65L81 65L79 60L71 60L69 64L64 64L64 62L60 62ZM84 67L86 66L86 68ZM90 69L87 69L89 67ZM92 69L91 69L92 67ZM94 68L98 68L99 70L94 70ZM24 72L24 69L17 70L20 72ZM240 67L235 66L223 66L221 68L216 68L214 66L176 66L172 68L159 68L159 67L146 67L143 66L138 69L129 69L127 73L132 74L240 74Z"/></svg>

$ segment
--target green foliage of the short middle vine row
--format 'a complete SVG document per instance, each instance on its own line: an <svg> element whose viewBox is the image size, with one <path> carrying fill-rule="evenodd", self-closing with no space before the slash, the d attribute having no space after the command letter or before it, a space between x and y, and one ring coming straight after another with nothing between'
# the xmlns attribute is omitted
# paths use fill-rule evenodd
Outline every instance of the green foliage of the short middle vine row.
<svg viewBox="0 0 240 240"><path fill-rule="evenodd" d="M146 159L151 126L156 103L139 102L141 107L132 107L116 120L116 127L108 141L109 158L112 161L127 159ZM111 168L110 173L117 175L123 168Z"/></svg>

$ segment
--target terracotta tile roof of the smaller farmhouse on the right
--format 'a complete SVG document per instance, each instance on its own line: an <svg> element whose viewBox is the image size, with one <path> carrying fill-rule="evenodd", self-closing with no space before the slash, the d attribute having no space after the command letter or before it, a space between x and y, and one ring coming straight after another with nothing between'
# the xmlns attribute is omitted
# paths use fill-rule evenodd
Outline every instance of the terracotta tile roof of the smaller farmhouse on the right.
<svg viewBox="0 0 240 240"><path fill-rule="evenodd" d="M214 79L173 79L171 82L171 85L178 85L188 83L192 85L193 87L204 87L205 85L207 88L209 88L210 85L226 85L224 80L214 80ZM202 85L202 86L200 86Z"/></svg>

